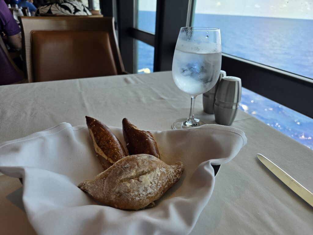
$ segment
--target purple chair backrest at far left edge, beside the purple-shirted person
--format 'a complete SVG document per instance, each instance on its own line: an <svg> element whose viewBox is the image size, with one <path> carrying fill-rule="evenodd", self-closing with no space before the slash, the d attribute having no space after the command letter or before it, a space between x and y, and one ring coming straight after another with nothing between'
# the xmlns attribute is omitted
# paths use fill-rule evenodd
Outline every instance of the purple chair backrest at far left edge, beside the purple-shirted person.
<svg viewBox="0 0 313 235"><path fill-rule="evenodd" d="M0 61L0 85L9 85L22 81L23 71L15 65L1 37Z"/></svg>

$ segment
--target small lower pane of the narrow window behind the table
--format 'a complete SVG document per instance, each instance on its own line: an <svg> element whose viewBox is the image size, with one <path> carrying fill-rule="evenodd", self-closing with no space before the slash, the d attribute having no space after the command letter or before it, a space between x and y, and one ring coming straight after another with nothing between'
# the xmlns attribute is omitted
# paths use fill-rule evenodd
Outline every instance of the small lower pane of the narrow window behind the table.
<svg viewBox="0 0 313 235"><path fill-rule="evenodd" d="M154 47L136 40L137 73L152 73L154 61Z"/></svg>

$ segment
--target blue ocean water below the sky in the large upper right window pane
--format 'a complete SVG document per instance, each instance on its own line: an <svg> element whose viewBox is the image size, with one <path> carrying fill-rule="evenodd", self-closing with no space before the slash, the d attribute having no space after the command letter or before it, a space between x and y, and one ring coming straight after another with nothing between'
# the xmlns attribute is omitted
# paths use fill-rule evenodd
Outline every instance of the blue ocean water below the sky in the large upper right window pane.
<svg viewBox="0 0 313 235"><path fill-rule="evenodd" d="M313 79L313 20L195 14L193 26L221 29L223 53Z"/></svg>

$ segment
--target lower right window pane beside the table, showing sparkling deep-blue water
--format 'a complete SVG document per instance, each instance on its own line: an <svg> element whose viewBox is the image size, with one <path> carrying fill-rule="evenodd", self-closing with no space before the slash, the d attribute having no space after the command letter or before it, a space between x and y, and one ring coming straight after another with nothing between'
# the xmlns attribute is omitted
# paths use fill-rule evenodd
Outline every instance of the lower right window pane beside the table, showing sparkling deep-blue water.
<svg viewBox="0 0 313 235"><path fill-rule="evenodd" d="M313 149L313 119L242 88L240 109Z"/></svg>

